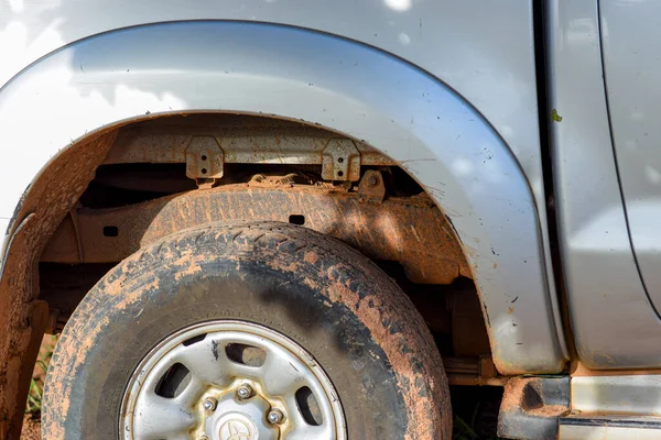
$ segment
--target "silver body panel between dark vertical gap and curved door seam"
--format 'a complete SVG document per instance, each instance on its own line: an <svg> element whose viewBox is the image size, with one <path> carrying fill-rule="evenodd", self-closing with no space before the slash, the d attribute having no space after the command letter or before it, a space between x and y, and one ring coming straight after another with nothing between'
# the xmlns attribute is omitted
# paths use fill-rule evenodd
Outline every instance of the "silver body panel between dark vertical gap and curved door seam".
<svg viewBox="0 0 661 440"><path fill-rule="evenodd" d="M602 78L597 3L555 0L546 12L560 249L578 358L592 369L658 366L661 322L629 241Z"/></svg>

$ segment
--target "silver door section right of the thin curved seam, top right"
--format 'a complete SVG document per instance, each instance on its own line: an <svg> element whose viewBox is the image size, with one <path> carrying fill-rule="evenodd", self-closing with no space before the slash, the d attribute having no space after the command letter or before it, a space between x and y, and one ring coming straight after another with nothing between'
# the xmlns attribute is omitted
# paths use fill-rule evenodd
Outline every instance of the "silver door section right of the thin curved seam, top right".
<svg viewBox="0 0 661 440"><path fill-rule="evenodd" d="M604 74L631 241L644 286L661 306L661 4L600 1Z"/></svg>

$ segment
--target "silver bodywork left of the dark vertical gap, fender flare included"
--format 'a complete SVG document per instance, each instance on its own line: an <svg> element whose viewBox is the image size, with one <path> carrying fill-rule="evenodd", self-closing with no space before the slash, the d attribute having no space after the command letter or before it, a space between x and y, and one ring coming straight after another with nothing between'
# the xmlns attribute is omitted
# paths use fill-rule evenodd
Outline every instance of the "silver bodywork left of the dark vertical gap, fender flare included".
<svg viewBox="0 0 661 440"><path fill-rule="evenodd" d="M0 56L11 59L0 76L3 143L44 125L34 146L2 161L7 223L48 160L113 123L181 111L318 123L377 145L430 188L469 250L499 367L560 371L530 7L494 6L479 19L479 2L12 4L0 14ZM495 14L517 24L503 29ZM496 187L507 197L492 197Z"/></svg>

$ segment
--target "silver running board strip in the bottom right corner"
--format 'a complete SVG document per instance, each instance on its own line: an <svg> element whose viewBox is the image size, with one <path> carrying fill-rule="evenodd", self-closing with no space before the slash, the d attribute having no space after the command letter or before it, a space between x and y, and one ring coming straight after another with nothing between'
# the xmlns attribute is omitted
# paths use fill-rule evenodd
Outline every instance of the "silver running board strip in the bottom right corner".
<svg viewBox="0 0 661 440"><path fill-rule="evenodd" d="M560 440L657 440L661 417L576 415L560 418Z"/></svg>

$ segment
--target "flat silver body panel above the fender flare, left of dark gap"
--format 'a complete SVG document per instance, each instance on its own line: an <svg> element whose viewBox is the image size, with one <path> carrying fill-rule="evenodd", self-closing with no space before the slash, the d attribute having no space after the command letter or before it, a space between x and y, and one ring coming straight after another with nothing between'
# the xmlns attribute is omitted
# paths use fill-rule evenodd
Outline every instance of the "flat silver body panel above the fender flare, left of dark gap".
<svg viewBox="0 0 661 440"><path fill-rule="evenodd" d="M289 24L356 40L407 59L485 114L514 152L543 206L531 1L3 0L0 87L40 57L75 41L184 20Z"/></svg>

